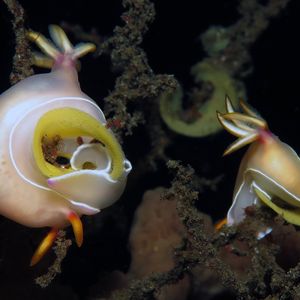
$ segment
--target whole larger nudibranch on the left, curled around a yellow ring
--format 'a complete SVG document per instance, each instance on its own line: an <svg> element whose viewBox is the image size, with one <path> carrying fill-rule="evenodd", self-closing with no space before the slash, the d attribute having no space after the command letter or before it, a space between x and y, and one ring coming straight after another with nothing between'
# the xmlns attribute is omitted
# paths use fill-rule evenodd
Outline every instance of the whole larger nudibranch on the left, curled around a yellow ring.
<svg viewBox="0 0 300 300"><path fill-rule="evenodd" d="M80 89L77 59L95 49L73 46L49 26L53 42L30 31L50 73L28 77L0 96L0 214L29 227L51 230L34 253L36 264L58 230L72 225L83 242L80 217L93 215L122 194L130 162L96 103Z"/></svg>

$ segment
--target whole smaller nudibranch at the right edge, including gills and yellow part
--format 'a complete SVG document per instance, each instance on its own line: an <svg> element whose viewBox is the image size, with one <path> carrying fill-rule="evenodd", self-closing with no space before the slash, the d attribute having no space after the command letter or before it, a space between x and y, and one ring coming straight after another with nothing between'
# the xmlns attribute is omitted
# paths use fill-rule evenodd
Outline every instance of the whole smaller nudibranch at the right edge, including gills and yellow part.
<svg viewBox="0 0 300 300"><path fill-rule="evenodd" d="M241 222L245 208L265 204L287 222L300 225L300 160L296 152L272 134L266 121L241 101L234 111L226 97L225 114L217 112L223 127L238 137L224 155L251 144L244 155L227 214L227 224Z"/></svg>

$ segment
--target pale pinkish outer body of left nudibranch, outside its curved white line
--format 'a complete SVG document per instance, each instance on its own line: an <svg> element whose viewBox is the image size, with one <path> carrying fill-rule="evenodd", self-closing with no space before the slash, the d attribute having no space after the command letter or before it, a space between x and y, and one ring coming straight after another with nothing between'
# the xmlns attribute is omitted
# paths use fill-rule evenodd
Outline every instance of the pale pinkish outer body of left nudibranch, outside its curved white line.
<svg viewBox="0 0 300 300"><path fill-rule="evenodd" d="M87 213L57 193L24 181L16 173L9 155L9 135L17 120L33 106L64 96L91 100L80 90L77 71L72 65L61 65L50 73L26 78L0 96L0 214L26 226L63 227L68 224L66 215L70 210L79 215Z"/></svg>

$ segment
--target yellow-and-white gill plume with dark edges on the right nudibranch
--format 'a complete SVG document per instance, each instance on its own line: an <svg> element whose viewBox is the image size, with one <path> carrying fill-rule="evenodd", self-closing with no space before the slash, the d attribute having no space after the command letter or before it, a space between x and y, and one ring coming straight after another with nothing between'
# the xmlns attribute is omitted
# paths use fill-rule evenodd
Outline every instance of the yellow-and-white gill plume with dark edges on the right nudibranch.
<svg viewBox="0 0 300 300"><path fill-rule="evenodd" d="M230 154L254 142L259 138L261 132L268 128L266 121L243 101L240 102L243 113L235 112L228 96L226 96L225 101L227 112L225 114L217 112L217 117L224 129L238 139L229 145L223 155Z"/></svg>

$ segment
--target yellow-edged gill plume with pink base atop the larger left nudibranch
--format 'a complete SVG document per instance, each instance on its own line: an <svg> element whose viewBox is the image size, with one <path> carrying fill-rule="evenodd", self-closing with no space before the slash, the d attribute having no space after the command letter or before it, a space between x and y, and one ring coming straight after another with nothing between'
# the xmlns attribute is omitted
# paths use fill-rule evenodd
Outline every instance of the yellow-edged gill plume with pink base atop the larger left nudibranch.
<svg viewBox="0 0 300 300"><path fill-rule="evenodd" d="M92 43L80 43L74 47L62 28L57 25L50 25L49 32L53 42L35 31L30 30L27 33L28 38L44 53L34 54L33 63L38 67L52 68L53 65L74 64L78 58L96 49Z"/></svg>

